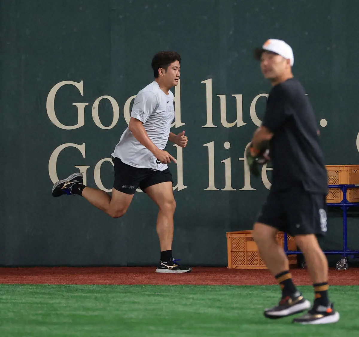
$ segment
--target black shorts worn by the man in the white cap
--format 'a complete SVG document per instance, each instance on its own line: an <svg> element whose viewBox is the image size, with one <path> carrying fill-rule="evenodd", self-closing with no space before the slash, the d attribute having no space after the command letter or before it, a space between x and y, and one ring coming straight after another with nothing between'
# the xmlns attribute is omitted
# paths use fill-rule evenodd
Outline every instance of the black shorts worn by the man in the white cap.
<svg viewBox="0 0 359 337"><path fill-rule="evenodd" d="M309 193L300 187L270 191L257 222L292 236L324 235L327 231L326 195Z"/></svg>

